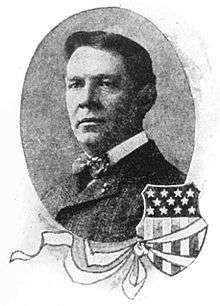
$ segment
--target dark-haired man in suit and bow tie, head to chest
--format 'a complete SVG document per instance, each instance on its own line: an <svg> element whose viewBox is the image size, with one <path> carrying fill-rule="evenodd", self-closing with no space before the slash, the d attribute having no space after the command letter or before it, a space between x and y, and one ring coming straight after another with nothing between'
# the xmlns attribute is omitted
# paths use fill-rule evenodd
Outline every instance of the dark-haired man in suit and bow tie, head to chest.
<svg viewBox="0 0 220 306"><path fill-rule="evenodd" d="M56 220L78 236L119 242L136 236L146 184L181 184L142 128L156 100L148 52L118 34L77 32L65 44L66 103L83 148L73 174L42 201L60 207Z"/></svg>

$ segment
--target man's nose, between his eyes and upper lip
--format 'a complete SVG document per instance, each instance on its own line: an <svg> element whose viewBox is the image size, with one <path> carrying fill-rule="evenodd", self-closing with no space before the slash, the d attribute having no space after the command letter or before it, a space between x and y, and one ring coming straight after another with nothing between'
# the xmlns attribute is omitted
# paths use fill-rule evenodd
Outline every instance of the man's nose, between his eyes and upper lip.
<svg viewBox="0 0 220 306"><path fill-rule="evenodd" d="M95 85L92 83L86 84L81 91L80 99L81 107L94 107L98 104L98 93Z"/></svg>

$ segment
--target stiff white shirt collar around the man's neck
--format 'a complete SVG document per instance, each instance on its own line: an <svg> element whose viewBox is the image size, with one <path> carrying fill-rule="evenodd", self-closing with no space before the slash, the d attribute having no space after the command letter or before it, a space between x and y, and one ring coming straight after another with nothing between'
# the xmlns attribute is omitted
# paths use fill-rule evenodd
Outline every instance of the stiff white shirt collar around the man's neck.
<svg viewBox="0 0 220 306"><path fill-rule="evenodd" d="M142 131L135 136L123 141L122 143L118 144L114 148L110 149L107 154L110 160L110 166L116 164L124 158L125 156L129 155L131 152L142 146L143 144L148 142L148 137L145 131Z"/></svg>

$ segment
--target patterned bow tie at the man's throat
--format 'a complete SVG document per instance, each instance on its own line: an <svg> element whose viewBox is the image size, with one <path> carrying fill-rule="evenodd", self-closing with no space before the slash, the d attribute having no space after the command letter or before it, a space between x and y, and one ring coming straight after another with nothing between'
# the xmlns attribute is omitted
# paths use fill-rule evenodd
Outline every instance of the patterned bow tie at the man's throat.
<svg viewBox="0 0 220 306"><path fill-rule="evenodd" d="M78 174L83 170L88 170L93 178L98 178L103 175L109 168L109 157L107 153L90 157L86 154L81 154L72 164L72 171L74 174Z"/></svg>

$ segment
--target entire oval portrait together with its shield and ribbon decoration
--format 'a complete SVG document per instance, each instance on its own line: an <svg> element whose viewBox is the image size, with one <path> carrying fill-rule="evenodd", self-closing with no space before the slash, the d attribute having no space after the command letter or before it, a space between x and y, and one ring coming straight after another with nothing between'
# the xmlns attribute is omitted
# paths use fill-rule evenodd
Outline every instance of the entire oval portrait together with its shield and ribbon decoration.
<svg viewBox="0 0 220 306"><path fill-rule="evenodd" d="M21 104L30 177L57 229L42 232L35 254L10 260L67 246L72 281L120 272L130 299L151 266L184 270L207 232L187 179L194 124L184 67L150 21L121 8L63 21L39 45Z"/></svg>

